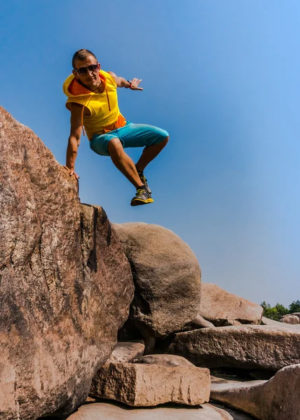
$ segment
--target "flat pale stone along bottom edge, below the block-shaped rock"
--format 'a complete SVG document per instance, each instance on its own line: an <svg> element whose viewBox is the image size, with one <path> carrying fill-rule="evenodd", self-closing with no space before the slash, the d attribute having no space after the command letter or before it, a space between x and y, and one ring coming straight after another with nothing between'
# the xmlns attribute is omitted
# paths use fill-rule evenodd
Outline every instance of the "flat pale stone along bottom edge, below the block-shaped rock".
<svg viewBox="0 0 300 420"><path fill-rule="evenodd" d="M232 412L229 410L229 412ZM201 407L128 408L107 402L83 405L67 420L248 420L249 416L229 414L226 409L203 404Z"/></svg>

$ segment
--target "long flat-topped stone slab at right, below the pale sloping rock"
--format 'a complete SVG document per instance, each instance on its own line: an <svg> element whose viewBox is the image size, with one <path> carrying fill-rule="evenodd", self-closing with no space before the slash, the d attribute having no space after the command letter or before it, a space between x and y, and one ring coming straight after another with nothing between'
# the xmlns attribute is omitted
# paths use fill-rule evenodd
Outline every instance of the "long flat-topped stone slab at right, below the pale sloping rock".
<svg viewBox="0 0 300 420"><path fill-rule="evenodd" d="M179 332L170 340L165 340L166 353L184 356L199 366L279 370L300 363L300 331L292 325L203 328Z"/></svg>

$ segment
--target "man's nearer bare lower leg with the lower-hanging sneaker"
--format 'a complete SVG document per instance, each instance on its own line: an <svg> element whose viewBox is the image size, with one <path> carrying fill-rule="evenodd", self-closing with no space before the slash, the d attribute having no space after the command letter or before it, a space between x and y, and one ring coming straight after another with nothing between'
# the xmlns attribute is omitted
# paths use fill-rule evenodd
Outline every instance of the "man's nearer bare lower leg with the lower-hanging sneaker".
<svg viewBox="0 0 300 420"><path fill-rule="evenodd" d="M154 200L152 200L151 194L149 194L148 190L144 187L144 184L139 178L135 164L133 163L132 159L130 159L130 157L125 153L121 141L118 139L118 137L109 140L107 151L109 152L111 160L118 168L118 170L126 176L128 181L130 181L135 186L135 188L137 188L137 193L135 197L132 198L131 205L139 206L141 204L149 204L153 202Z"/></svg>

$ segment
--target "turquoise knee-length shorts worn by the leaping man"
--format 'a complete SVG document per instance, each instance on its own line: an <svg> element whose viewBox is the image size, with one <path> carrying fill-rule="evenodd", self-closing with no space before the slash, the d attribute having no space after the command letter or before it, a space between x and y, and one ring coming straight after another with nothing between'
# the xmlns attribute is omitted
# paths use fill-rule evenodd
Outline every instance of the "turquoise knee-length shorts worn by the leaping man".
<svg viewBox="0 0 300 420"><path fill-rule="evenodd" d="M121 141L123 148L126 148L152 146L161 143L168 135L168 132L153 125L132 124L128 121L124 127L106 134L95 134L90 141L90 148L98 155L109 156L107 146L109 141L116 137Z"/></svg>

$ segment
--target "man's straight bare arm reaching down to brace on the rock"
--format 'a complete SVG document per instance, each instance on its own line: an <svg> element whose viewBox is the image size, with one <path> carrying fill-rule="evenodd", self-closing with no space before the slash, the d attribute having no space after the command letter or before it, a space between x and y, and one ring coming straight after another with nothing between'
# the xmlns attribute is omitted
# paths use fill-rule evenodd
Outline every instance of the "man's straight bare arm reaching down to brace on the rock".
<svg viewBox="0 0 300 420"><path fill-rule="evenodd" d="M65 168L69 170L69 175L74 175L76 179L79 176L75 172L75 160L77 150L80 144L81 130L82 130L82 105L71 104L71 130L67 146L67 158Z"/></svg>

